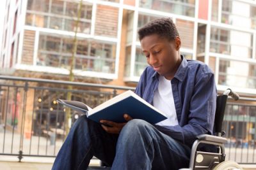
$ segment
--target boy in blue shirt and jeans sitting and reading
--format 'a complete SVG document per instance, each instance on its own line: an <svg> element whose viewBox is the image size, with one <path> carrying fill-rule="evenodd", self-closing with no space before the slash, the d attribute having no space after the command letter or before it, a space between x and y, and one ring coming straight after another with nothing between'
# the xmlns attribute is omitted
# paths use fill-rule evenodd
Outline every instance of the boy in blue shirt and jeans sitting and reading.
<svg viewBox="0 0 256 170"><path fill-rule="evenodd" d="M214 74L180 55L181 40L170 18L138 31L149 66L135 92L168 115L158 124L132 119L100 125L85 116L73 125L52 169L86 169L93 155L111 169L180 169L189 166L199 134L212 134L216 109ZM147 113L145 113L147 114Z"/></svg>

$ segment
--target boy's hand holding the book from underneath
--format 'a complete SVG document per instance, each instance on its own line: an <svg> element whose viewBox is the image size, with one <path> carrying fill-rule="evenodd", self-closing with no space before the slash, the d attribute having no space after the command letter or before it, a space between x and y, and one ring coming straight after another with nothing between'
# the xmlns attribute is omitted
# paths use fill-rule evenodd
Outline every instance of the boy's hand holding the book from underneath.
<svg viewBox="0 0 256 170"><path fill-rule="evenodd" d="M127 115L124 114L124 119L128 122L129 120L132 120L132 118ZM111 134L119 134L120 131L122 130L122 128L124 127L125 123L116 123L116 122L112 122L109 120L100 120L100 123L102 124L102 128Z"/></svg>

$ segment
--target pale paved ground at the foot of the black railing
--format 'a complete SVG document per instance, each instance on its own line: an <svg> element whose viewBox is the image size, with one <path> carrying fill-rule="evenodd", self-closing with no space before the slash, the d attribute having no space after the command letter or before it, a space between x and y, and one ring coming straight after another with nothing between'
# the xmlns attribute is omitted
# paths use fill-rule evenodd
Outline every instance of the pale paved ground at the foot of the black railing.
<svg viewBox="0 0 256 170"><path fill-rule="evenodd" d="M22 150L24 154L31 155L47 155L54 156L58 153L63 140L58 139L52 145L51 140L45 137L32 136L32 138L24 138ZM0 153L19 153L20 150L20 135L12 134L12 132L0 131ZM227 160L236 160L236 162L248 162L243 164L244 169L256 170L256 148L225 148ZM24 157L22 162L17 162L17 156L0 155L0 170L48 170L51 169L54 158L45 157ZM40 163L38 163L40 162ZM92 160L92 166L99 165L99 160Z"/></svg>

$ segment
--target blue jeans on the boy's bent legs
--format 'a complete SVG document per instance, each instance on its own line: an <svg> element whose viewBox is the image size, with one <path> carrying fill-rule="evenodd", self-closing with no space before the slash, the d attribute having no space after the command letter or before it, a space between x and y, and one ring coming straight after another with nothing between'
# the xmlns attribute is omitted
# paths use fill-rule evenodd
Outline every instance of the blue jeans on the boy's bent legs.
<svg viewBox="0 0 256 170"><path fill-rule="evenodd" d="M86 169L93 155L111 169L180 169L189 166L190 148L144 120L127 122L120 134L80 117L72 126L52 169Z"/></svg>

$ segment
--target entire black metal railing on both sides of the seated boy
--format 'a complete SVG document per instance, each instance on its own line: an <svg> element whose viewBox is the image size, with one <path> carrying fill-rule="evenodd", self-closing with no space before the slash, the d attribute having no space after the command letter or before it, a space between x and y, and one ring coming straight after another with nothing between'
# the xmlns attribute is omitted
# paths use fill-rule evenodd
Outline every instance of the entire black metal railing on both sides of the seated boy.
<svg viewBox="0 0 256 170"><path fill-rule="evenodd" d="M66 99L72 92L73 100L93 108L124 90L134 88L0 76L0 155L16 155L19 160L56 157L65 140L65 125L79 117L72 111L71 121L65 120L65 108L56 99ZM223 121L227 160L256 163L255 121L256 106L228 101Z"/></svg>

